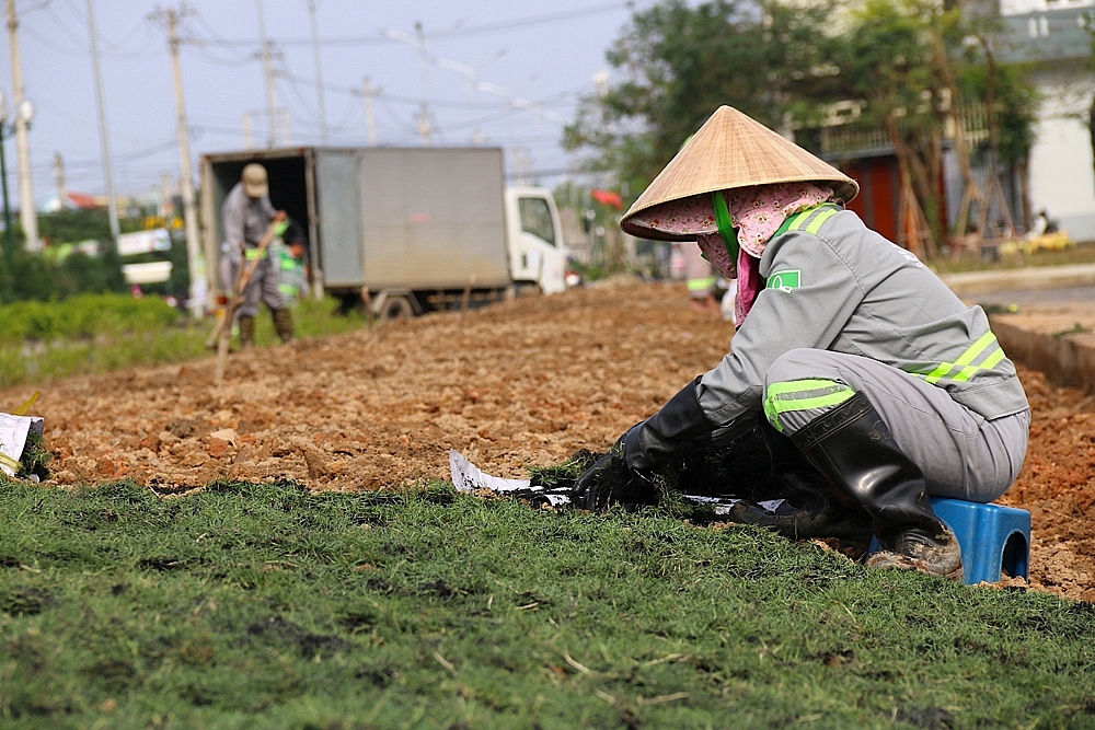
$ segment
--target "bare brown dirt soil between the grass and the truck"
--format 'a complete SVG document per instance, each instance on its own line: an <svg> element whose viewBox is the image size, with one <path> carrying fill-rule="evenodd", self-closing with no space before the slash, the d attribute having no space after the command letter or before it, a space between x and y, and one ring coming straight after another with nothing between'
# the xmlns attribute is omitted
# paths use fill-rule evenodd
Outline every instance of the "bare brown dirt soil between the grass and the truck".
<svg viewBox="0 0 1095 730"><path fill-rule="evenodd" d="M607 282L232 355L219 386L212 358L51 382L34 412L61 485L381 489L447 479L450 448L525 477L528 465L606 449L718 362L731 334L691 311L683 287ZM1030 587L1093 601L1095 397L1021 376L1030 449L1001 501L1031 512ZM31 390L0 392L0 407Z"/></svg>

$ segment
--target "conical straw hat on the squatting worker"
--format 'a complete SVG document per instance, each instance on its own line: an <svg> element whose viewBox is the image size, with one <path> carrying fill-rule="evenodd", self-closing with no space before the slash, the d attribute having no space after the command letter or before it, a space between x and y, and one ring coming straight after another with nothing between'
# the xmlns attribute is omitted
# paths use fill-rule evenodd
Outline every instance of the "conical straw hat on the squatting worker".
<svg viewBox="0 0 1095 730"><path fill-rule="evenodd" d="M620 221L626 233L658 241L690 241L652 222L652 208L715 190L773 183L828 183L848 202L858 184L832 165L741 112L721 106L681 148ZM635 216L647 211L641 220Z"/></svg>

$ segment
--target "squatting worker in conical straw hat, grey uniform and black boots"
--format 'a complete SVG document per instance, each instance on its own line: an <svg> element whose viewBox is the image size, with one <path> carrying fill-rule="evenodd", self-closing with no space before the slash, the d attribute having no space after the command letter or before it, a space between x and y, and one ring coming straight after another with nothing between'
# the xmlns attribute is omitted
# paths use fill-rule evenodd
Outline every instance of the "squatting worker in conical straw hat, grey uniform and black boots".
<svg viewBox="0 0 1095 730"><path fill-rule="evenodd" d="M1003 494L1026 454L1029 406L984 312L845 210L857 192L726 106L655 178L621 227L698 239L737 278L738 329L733 352L579 478L580 505L603 505L616 470L648 479L675 454L717 447L760 415L798 511L739 506L735 519L799 537L858 523L880 545L868 566L960 579L958 542L929 496Z"/></svg>

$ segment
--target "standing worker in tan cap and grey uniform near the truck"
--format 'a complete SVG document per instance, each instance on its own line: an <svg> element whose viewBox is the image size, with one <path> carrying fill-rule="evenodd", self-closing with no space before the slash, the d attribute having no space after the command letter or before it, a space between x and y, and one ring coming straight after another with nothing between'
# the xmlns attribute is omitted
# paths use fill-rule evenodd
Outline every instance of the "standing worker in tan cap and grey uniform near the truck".
<svg viewBox="0 0 1095 730"><path fill-rule="evenodd" d="M278 291L280 271L258 244L272 221L286 220L284 210L275 210L269 198L266 167L252 162L243 167L240 182L229 192L221 207L224 237L229 256L243 264L258 259L254 274L243 290L243 304L238 310L240 346L250 347L255 341L255 315L262 298L274 315L274 329L283 343L292 340L292 314Z"/></svg>

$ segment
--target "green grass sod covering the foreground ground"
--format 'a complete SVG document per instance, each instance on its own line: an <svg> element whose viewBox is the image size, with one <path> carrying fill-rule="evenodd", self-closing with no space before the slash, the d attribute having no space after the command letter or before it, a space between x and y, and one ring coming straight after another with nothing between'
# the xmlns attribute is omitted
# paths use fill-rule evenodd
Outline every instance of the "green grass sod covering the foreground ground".
<svg viewBox="0 0 1095 730"><path fill-rule="evenodd" d="M1095 606L456 495L0 485L4 728L1095 727Z"/></svg>

